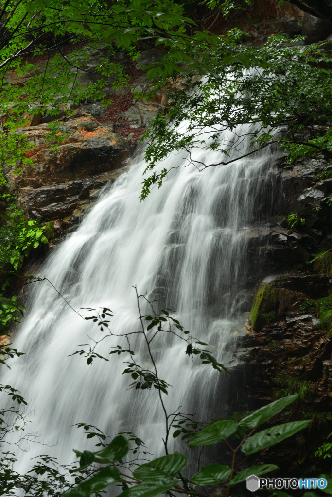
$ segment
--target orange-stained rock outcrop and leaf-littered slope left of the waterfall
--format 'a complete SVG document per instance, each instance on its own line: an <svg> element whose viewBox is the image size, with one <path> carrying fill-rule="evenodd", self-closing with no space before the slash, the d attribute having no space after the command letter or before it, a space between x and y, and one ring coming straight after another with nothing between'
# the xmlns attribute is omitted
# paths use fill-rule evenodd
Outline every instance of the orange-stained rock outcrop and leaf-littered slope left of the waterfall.
<svg viewBox="0 0 332 497"><path fill-rule="evenodd" d="M80 83L85 85L101 77L96 71L102 54L102 48L89 54L88 70L79 72ZM156 95L150 102L133 98L134 91L147 89L149 84L140 68L163 55L158 49L143 50L131 67L124 54L117 54L124 73L130 73L131 85L114 90L105 81L105 103L88 99L69 112L69 102L69 107L63 106L56 114L49 106L43 115L32 116L30 125L17 129L32 145L26 154L31 163L13 167L4 164L3 172L29 219L51 222L57 238L65 235L94 205L101 189L126 170L126 160L132 157L163 98ZM8 83L22 84L28 77L21 81L12 72ZM52 127L54 121L56 129Z"/></svg>

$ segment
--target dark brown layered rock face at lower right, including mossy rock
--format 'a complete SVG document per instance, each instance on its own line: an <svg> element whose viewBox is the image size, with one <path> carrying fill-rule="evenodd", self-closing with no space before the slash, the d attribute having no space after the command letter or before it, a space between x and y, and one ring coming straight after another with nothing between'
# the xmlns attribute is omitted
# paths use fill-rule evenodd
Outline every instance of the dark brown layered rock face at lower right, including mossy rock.
<svg viewBox="0 0 332 497"><path fill-rule="evenodd" d="M330 471L331 463L314 453L331 431L332 329L324 322L332 312L331 291L332 279L325 275L267 278L251 310L253 329L242 342L249 395L260 405L297 393L276 421L313 420L309 429L264 454L265 463L278 461L280 476Z"/></svg>

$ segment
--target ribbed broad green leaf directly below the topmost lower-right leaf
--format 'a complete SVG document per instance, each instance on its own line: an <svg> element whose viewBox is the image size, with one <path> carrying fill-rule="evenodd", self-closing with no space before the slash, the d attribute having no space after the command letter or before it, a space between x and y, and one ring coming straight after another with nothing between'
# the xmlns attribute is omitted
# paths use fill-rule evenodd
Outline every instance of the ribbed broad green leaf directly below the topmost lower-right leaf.
<svg viewBox="0 0 332 497"><path fill-rule="evenodd" d="M262 430L255 435L250 436L245 440L241 446L241 450L244 454L254 454L259 450L266 449L275 443L281 442L285 438L288 438L294 433L302 430L310 423L311 420L307 421L293 421L291 423L279 424L277 426L272 426L266 430Z"/></svg>

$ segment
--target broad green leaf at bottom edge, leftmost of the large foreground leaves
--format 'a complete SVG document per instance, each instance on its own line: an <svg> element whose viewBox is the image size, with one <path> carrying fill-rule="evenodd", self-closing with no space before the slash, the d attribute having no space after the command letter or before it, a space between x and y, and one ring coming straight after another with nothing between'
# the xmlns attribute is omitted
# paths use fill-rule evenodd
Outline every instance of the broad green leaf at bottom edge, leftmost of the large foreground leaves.
<svg viewBox="0 0 332 497"><path fill-rule="evenodd" d="M65 492L63 497L89 497L91 494L99 492L109 485L114 485L114 483L120 480L121 475L119 470L113 466L108 466L86 482L82 482L77 487Z"/></svg>

